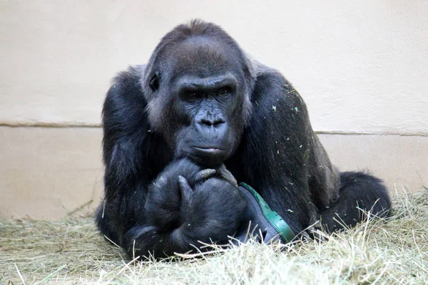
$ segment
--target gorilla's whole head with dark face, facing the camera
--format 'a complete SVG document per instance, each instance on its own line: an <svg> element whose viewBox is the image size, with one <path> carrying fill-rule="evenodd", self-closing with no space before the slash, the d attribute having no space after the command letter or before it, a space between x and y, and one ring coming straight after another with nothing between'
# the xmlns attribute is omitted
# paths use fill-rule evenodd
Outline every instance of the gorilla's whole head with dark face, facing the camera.
<svg viewBox="0 0 428 285"><path fill-rule="evenodd" d="M175 157L213 166L240 143L254 82L250 61L228 33L192 21L163 37L141 84L151 126Z"/></svg>

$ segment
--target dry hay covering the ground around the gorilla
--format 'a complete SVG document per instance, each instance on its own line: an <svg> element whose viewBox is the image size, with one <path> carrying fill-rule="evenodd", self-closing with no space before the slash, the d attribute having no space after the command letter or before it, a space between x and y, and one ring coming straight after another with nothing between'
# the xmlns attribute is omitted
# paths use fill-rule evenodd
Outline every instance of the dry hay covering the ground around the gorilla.
<svg viewBox="0 0 428 285"><path fill-rule="evenodd" d="M123 261L91 217L0 219L0 284L426 284L428 190L394 198L394 217L325 242L244 244L183 261Z"/></svg>

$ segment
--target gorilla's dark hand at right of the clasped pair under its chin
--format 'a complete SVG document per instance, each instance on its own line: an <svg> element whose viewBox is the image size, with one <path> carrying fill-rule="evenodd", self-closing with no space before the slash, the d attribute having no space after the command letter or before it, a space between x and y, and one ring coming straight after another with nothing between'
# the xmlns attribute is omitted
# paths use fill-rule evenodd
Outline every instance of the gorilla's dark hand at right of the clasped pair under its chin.
<svg viewBox="0 0 428 285"><path fill-rule="evenodd" d="M215 177L191 186L185 177L178 178L182 204L180 224L190 239L227 243L240 223L247 202L238 191L235 177L220 167Z"/></svg>

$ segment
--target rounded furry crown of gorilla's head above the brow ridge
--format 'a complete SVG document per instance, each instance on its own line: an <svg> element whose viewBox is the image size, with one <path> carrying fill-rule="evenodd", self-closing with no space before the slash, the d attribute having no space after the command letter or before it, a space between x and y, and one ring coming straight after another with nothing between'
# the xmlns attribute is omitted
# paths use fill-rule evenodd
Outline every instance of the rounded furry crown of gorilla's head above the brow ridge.
<svg viewBox="0 0 428 285"><path fill-rule="evenodd" d="M144 76L168 78L173 73L205 77L228 70L242 75L253 86L253 66L238 43L223 28L198 19L181 24L167 33L156 46ZM160 72L161 71L161 72Z"/></svg>

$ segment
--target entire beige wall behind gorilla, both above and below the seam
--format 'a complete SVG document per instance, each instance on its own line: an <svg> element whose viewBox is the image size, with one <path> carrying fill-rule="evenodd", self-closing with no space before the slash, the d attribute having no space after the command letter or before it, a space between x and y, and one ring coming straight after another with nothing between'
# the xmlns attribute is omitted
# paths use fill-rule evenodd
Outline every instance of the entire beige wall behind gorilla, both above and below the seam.
<svg viewBox="0 0 428 285"><path fill-rule="evenodd" d="M292 81L343 170L427 185L427 15L424 0L1 1L0 214L98 203L111 77L196 17Z"/></svg>

